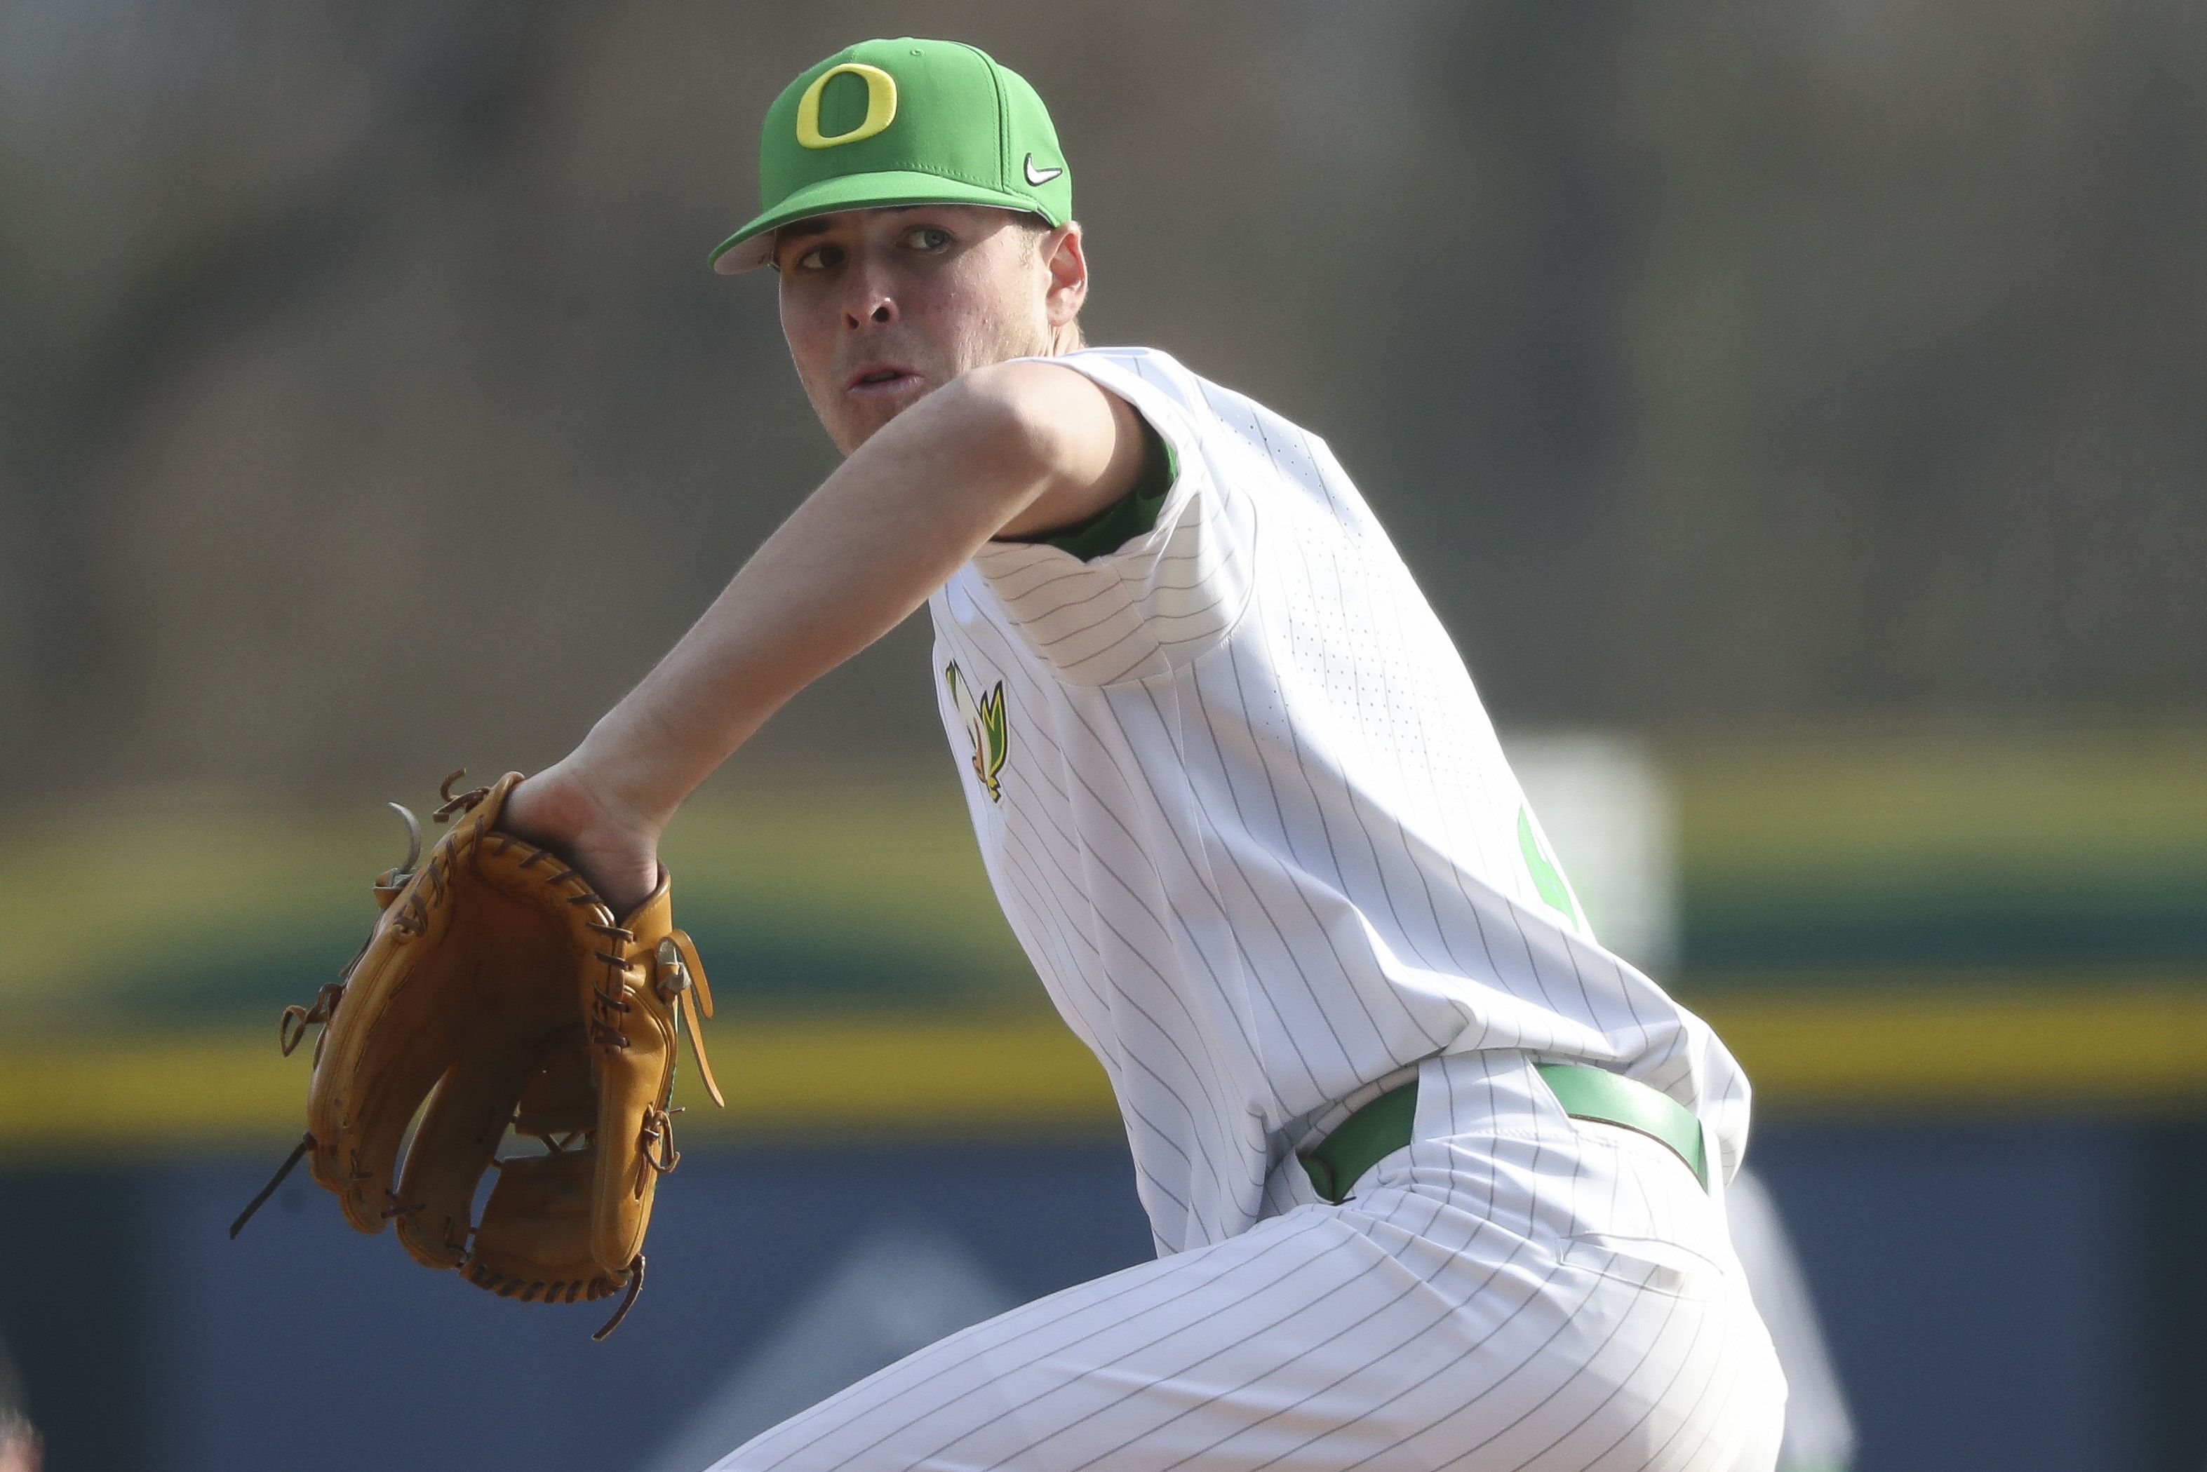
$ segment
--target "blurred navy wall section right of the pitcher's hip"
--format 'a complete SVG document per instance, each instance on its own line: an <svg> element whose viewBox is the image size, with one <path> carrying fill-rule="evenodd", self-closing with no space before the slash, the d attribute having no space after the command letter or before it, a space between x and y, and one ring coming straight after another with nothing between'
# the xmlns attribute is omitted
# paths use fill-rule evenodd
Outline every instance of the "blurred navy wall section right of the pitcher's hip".
<svg viewBox="0 0 2207 1472"><path fill-rule="evenodd" d="M1759 1126L1876 1472L2143 1468L2123 1123Z"/></svg>

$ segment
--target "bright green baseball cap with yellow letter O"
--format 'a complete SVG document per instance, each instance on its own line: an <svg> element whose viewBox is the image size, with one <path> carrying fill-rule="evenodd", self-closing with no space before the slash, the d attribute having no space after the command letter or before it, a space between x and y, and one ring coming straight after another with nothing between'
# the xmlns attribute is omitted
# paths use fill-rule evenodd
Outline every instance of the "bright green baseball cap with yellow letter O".
<svg viewBox="0 0 2207 1472"><path fill-rule="evenodd" d="M878 205L995 205L1073 218L1073 172L1026 77L960 42L859 42L790 82L759 135L759 216L713 269L766 265L790 221Z"/></svg>

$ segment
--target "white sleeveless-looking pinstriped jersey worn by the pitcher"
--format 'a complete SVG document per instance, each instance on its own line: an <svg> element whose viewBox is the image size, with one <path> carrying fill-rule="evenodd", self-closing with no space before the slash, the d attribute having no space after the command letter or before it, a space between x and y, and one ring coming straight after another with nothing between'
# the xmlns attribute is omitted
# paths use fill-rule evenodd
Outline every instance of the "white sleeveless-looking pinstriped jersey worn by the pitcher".
<svg viewBox="0 0 2207 1472"><path fill-rule="evenodd" d="M1051 362L1174 452L1156 525L991 543L931 600L982 861L1119 1099L1159 1251L1284 1207L1267 1174L1437 1053L1525 1050L1702 1114L1748 1086L1596 945L1472 680L1333 452L1152 349Z"/></svg>

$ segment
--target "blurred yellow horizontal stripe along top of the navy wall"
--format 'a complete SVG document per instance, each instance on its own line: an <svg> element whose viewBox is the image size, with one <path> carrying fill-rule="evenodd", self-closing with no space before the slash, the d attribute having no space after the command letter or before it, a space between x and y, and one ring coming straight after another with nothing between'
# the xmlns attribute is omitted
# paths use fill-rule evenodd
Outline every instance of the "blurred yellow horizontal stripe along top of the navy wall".
<svg viewBox="0 0 2207 1472"><path fill-rule="evenodd" d="M1763 1106L1816 1114L2044 1114L2207 1106L2207 986L1710 1000ZM1108 1134L1095 1059L1055 1017L731 1017L711 1024L728 1110L684 1064L678 1134ZM230 1031L0 1048L0 1152L265 1145L302 1128L307 1053Z"/></svg>

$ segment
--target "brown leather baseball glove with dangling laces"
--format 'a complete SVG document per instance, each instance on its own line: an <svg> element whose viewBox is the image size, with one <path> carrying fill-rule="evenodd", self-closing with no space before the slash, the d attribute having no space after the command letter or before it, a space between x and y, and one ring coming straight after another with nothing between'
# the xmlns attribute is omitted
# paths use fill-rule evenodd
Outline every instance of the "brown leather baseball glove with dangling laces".
<svg viewBox="0 0 2207 1472"><path fill-rule="evenodd" d="M435 814L452 832L428 863L415 867L417 845L375 881L382 916L344 980L313 1006L285 1009L285 1053L324 1024L307 1137L230 1234L311 1154L313 1178L353 1227L397 1220L399 1242L426 1267L543 1302L627 1289L594 1335L603 1340L642 1289L651 1196L680 1159L678 1017L706 1092L724 1103L697 1028L713 993L691 938L673 929L667 870L616 925L558 854L499 832L521 772L452 797L457 777ZM508 1128L543 1150L497 1159ZM475 1190L490 1167L499 1183L477 1223Z"/></svg>

